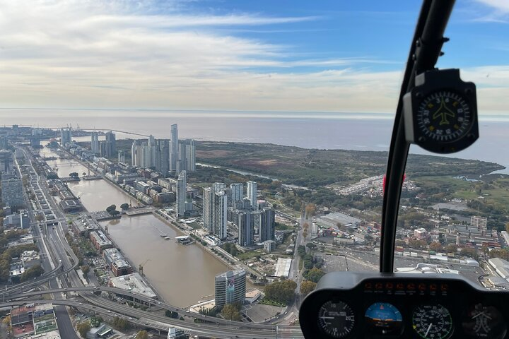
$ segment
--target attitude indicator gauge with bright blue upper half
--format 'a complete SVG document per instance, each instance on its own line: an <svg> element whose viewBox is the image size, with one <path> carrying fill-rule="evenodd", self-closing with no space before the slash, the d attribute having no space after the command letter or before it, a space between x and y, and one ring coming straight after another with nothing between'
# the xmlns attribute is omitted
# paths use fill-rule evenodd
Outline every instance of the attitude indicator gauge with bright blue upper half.
<svg viewBox="0 0 509 339"><path fill-rule="evenodd" d="M364 314L368 331L377 334L399 334L403 327L403 318L399 310L387 302L375 302Z"/></svg>

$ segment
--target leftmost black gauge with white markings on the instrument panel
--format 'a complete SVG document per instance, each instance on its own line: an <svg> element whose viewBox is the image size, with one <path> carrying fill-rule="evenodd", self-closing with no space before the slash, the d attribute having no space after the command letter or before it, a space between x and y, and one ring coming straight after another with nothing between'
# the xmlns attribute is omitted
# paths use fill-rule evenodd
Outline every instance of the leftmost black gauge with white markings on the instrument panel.
<svg viewBox="0 0 509 339"><path fill-rule="evenodd" d="M348 304L329 301L318 311L318 326L333 338L346 338L355 325L355 315Z"/></svg>

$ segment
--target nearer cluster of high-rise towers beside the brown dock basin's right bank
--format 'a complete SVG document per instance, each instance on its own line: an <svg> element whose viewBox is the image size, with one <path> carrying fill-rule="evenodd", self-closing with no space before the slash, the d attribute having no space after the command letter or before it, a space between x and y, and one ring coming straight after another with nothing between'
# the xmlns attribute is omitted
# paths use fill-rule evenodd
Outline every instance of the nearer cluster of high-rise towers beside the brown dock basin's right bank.
<svg viewBox="0 0 509 339"><path fill-rule="evenodd" d="M257 201L257 183L226 185L216 182L203 192L204 228L220 239L228 236L228 221L238 226L238 244L252 246L256 240L274 240L274 210ZM257 239L256 239L257 238Z"/></svg>

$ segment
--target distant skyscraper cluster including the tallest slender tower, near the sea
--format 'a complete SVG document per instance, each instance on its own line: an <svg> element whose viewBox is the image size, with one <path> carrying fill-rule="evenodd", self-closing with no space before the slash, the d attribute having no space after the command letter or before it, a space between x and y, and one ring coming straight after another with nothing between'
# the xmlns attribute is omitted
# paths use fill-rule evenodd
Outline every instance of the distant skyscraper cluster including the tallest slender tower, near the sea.
<svg viewBox="0 0 509 339"><path fill-rule="evenodd" d="M196 169L194 140L178 139L177 124L171 126L171 139L155 139L139 143L134 141L131 146L131 165L156 169L163 175L194 172Z"/></svg>

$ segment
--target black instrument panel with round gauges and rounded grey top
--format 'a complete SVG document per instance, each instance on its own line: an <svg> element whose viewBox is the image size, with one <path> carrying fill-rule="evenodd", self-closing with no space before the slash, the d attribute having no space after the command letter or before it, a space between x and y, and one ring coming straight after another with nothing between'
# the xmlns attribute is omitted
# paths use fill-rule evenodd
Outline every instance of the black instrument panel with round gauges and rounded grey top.
<svg viewBox="0 0 509 339"><path fill-rule="evenodd" d="M509 338L509 293L460 275L324 275L300 307L305 338Z"/></svg>

